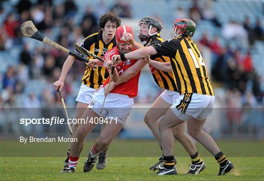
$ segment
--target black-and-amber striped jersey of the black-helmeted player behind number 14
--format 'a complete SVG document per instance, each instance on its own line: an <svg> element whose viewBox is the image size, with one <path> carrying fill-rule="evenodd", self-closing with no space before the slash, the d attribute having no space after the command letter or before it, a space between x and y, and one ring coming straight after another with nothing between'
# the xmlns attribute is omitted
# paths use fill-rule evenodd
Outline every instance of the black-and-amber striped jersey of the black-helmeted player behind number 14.
<svg viewBox="0 0 264 181"><path fill-rule="evenodd" d="M151 36L150 39L146 42L146 44L144 44L144 46L151 46L157 43L161 43L163 41L164 40L160 37L158 33L158 34ZM156 60L160 62L170 62L169 57L161 56L159 54L152 55L151 60ZM161 70L156 69L155 67L151 65L149 66L150 66L152 76L159 87L168 89L171 91L177 91L177 87L176 87L172 73L163 72Z"/></svg>

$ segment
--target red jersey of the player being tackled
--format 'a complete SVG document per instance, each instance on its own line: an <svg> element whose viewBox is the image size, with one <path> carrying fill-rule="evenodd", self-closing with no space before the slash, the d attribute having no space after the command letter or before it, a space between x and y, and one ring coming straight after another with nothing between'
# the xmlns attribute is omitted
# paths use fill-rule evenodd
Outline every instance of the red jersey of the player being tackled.
<svg viewBox="0 0 264 181"><path fill-rule="evenodd" d="M133 50L135 50L135 49L133 49ZM107 60L107 59L111 60L113 55L119 55L119 52L117 50L117 46L110 49L105 54L104 60ZM129 67L131 67L133 64L135 64L135 62L136 62L136 60L126 60L126 61L122 61L119 65L117 65L115 68L117 69L119 76L123 72L125 72ZM128 95L130 98L136 97L137 91L138 91L139 76L140 76L140 71L134 77L132 77L130 80L116 85L110 93L124 94L124 95ZM110 79L110 77L108 77L108 79L105 81L104 86L109 83L109 79Z"/></svg>

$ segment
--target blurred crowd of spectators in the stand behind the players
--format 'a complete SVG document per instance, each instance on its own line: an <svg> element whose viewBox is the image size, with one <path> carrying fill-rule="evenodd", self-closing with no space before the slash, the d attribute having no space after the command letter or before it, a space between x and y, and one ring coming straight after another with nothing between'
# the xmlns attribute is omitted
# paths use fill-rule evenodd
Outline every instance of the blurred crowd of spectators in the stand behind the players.
<svg viewBox="0 0 264 181"><path fill-rule="evenodd" d="M121 18L133 18L130 2L119 0L114 1L110 7L103 0L98 1L100 8L96 11L89 5L77 6L74 0L66 0L56 5L52 0L36 0L34 3L30 0L19 0L12 7L12 11L5 12L2 2L0 13L1 16L4 14L6 16L3 17L0 27L0 50L18 49L19 60L0 74L1 107L49 107L60 102L53 82L58 80L67 54L39 42L34 42L34 47L32 44L30 46L22 37L20 31L22 22L32 20L45 36L72 50L75 42L80 42L98 31L99 18L109 10ZM212 10L213 2L208 0L201 6L195 0L188 10L177 7L175 18L190 18L197 22L198 28L203 20L211 21L214 26L221 28L220 36L209 38L208 32L204 32L198 40L200 45L211 49L212 69L208 70L212 72L211 79L217 85L216 88L224 87L227 107L254 107L263 103L264 96L261 89L263 77L257 74L251 57L254 42L264 40L262 21L259 18L253 24L245 17L243 22L230 20L220 23ZM76 20L75 16L80 8L85 8L84 14ZM225 43L221 43L222 41ZM84 70L85 64L76 61L66 77L63 94L73 107ZM37 85L42 89L41 94L34 89L25 91L30 80L39 82ZM148 96L146 99L135 101L151 103L160 93L156 92L153 97Z"/></svg>

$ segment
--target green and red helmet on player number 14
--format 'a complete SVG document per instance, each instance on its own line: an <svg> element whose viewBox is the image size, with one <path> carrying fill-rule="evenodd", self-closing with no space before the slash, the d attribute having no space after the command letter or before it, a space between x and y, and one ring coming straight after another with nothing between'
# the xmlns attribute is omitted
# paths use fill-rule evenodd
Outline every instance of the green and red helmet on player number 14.
<svg viewBox="0 0 264 181"><path fill-rule="evenodd" d="M172 38L179 37L181 35L187 35L192 37L196 30L196 23L190 19L176 19L173 23L171 31Z"/></svg>

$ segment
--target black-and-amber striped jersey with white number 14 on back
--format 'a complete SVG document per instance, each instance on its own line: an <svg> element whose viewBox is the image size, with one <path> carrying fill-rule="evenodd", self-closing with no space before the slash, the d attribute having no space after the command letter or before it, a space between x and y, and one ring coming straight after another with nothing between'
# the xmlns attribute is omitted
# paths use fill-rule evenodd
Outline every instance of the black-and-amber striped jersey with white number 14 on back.
<svg viewBox="0 0 264 181"><path fill-rule="evenodd" d="M171 58L174 80L180 94L214 95L205 64L190 37L178 37L153 46L157 53Z"/></svg>

